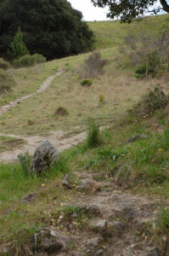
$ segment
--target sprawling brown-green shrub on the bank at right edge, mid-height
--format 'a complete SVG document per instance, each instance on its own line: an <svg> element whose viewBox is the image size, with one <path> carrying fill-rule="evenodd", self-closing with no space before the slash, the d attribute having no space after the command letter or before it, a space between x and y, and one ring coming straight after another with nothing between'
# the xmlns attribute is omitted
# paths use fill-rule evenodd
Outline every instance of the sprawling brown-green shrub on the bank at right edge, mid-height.
<svg viewBox="0 0 169 256"><path fill-rule="evenodd" d="M149 90L149 93L142 97L129 112L132 115L149 115L159 108L164 108L168 103L169 96L166 96L161 88L156 87L155 90Z"/></svg>

